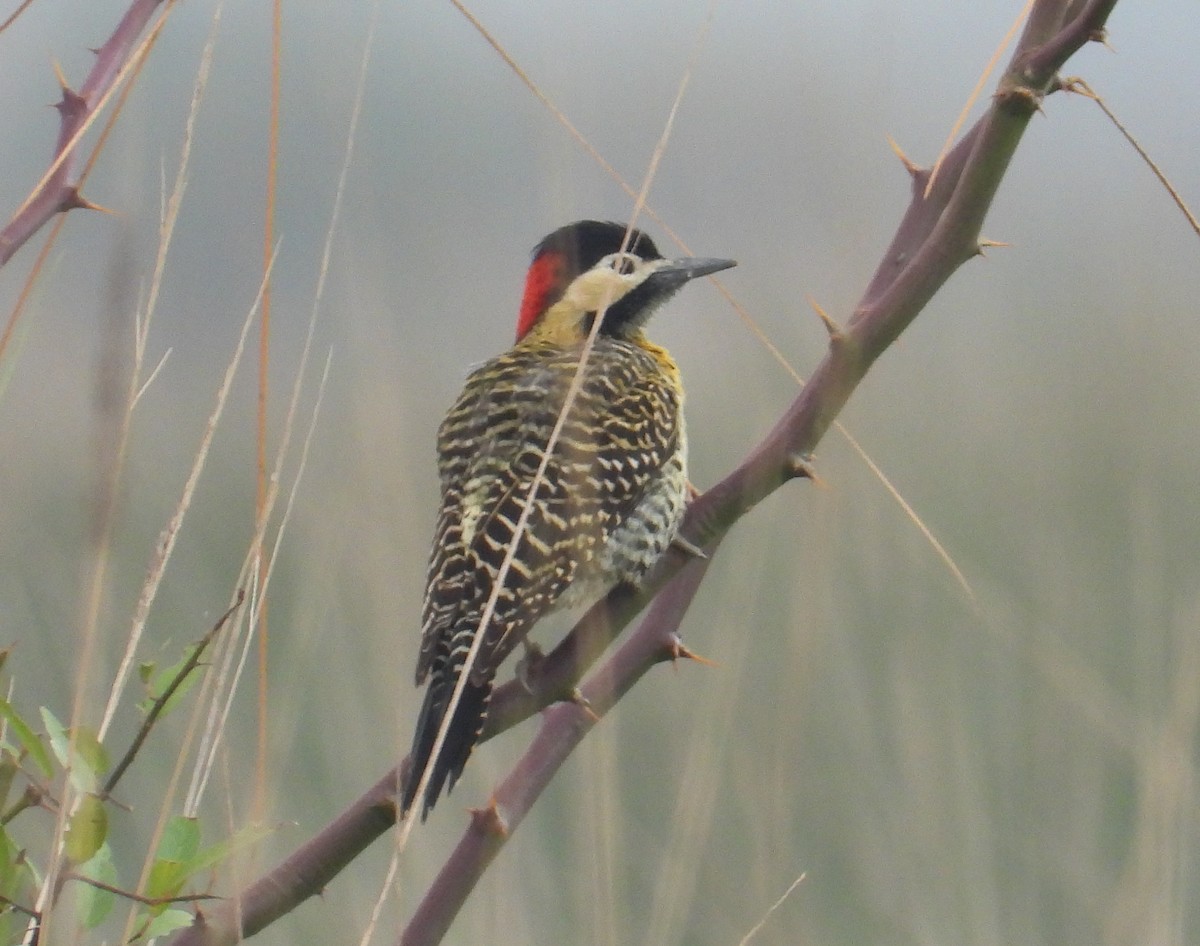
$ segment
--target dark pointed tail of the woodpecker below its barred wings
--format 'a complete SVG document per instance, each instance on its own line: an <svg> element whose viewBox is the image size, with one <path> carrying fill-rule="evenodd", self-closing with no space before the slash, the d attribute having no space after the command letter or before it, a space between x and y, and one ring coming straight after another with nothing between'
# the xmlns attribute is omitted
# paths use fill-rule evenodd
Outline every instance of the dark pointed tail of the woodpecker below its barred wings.
<svg viewBox="0 0 1200 946"><path fill-rule="evenodd" d="M461 672L461 670L460 670ZM446 792L454 788L462 768L470 758L472 749L479 742L479 736L484 731L484 720L487 718L487 703L492 699L492 675L488 673L482 681L476 682L474 675L467 681L462 697L455 708L454 719L446 730L445 742L442 743L442 752L438 758L431 761L433 743L438 738L438 730L442 729L442 720L445 718L450 705L450 696L454 694L458 673L432 675L428 689L425 691L425 703L421 706L421 716L416 720L416 734L413 736L413 750L409 754L412 762L408 777L404 780L404 790L401 794L401 810L407 812L416 796L425 767L430 766L430 782L425 786L425 800L421 809L424 821L430 810L442 795L442 788Z"/></svg>

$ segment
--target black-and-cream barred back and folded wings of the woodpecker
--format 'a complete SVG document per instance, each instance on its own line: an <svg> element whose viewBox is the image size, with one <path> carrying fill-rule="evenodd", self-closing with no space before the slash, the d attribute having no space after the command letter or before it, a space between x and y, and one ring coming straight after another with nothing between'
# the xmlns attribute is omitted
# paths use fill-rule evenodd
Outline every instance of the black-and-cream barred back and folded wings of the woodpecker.
<svg viewBox="0 0 1200 946"><path fill-rule="evenodd" d="M446 635L480 619L577 364L570 352L529 360L521 354L510 352L474 372L438 435L442 509L426 581L418 682L439 643L448 645ZM500 659L553 609L641 502L679 432L644 424L636 430L636 421L670 396L655 372L630 367L628 359L589 363L488 624L488 646L500 646ZM656 413L670 418L660 423L673 425L678 409Z"/></svg>

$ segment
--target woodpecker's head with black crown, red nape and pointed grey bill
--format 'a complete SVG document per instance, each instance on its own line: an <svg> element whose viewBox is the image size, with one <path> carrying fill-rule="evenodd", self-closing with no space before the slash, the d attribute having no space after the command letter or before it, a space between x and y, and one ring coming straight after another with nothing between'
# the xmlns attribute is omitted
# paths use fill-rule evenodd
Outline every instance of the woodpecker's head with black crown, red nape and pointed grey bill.
<svg viewBox="0 0 1200 946"><path fill-rule="evenodd" d="M601 335L630 337L685 282L737 265L732 259L664 259L641 230L632 230L626 244L626 229L581 220L538 244L526 276L517 341L535 330L582 339L600 311Z"/></svg>

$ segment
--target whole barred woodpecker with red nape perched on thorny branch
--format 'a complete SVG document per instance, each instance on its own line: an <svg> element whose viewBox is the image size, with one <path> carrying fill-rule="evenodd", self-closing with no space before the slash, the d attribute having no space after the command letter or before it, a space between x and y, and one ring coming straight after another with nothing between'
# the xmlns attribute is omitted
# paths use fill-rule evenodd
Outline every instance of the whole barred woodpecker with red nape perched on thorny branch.
<svg viewBox="0 0 1200 946"><path fill-rule="evenodd" d="M628 239L626 239L628 233ZM401 803L431 766L422 820L479 741L500 664L544 615L635 585L676 537L688 503L679 370L646 321L684 283L732 259L664 259L640 230L584 220L533 252L516 343L467 378L438 430L442 507L422 604L416 684L427 683ZM600 318L582 383L530 489ZM491 619L517 522L530 504ZM482 642L437 759L438 729L476 635Z"/></svg>

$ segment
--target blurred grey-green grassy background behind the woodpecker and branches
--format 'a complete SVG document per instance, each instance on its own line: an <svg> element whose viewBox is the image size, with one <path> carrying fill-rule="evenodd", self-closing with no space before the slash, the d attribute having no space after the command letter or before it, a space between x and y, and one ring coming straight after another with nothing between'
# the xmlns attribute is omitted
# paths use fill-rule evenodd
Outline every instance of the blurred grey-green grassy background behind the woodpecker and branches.
<svg viewBox="0 0 1200 946"><path fill-rule="evenodd" d="M845 319L908 200L892 136L931 162L1015 0L718 5L649 203L792 366ZM707 16L695 0L472 10L638 186ZM54 64L79 83L121 2L42 0L0 36L0 206L44 170ZM1200 200L1196 8L1124 2L1087 78L1184 198ZM0 639L14 702L67 716L86 535L162 180L175 173L214 5L170 16L0 365ZM331 358L270 605L271 863L407 748L436 503L433 436L468 369L512 336L530 247L631 202L448 2L283 11L271 445L278 443L372 18L364 112L317 316ZM148 342L97 672L115 666L262 271L270 13L229 4ZM994 83L988 83L988 89ZM976 108L978 114L979 106ZM670 243L643 221L661 249ZM716 666L652 672L505 848L448 942L1194 944L1200 713L1200 246L1099 109L1055 95L965 267L842 415L942 541L972 600L836 433L824 489L796 483L722 545L684 625ZM36 247L0 273L11 310ZM257 331L257 329L256 329ZM689 391L692 479L728 472L797 388L710 286L652 324ZM172 659L224 610L252 532L247 357L150 617ZM286 485L295 463L284 472ZM539 633L546 641L565 618ZM97 697L98 699L98 697ZM97 702L98 707L100 703ZM98 714L98 710L95 711ZM247 678L208 839L250 816ZM181 740L126 784L137 836ZM122 744L137 724L118 720ZM418 826L376 941L390 941L534 732L479 750ZM220 784L218 784L220 783ZM132 884L136 846L118 851ZM264 944L353 941L378 843ZM232 888L228 878L218 890Z"/></svg>

